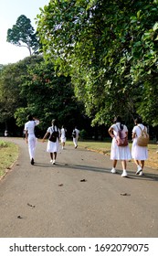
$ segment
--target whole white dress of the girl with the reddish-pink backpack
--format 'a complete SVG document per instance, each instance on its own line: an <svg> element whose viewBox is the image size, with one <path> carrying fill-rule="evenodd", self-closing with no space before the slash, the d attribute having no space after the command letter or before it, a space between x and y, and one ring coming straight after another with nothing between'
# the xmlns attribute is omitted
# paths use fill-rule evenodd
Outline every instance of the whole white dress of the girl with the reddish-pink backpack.
<svg viewBox="0 0 158 256"><path fill-rule="evenodd" d="M111 128L113 128L113 134L115 137L112 138L111 143L111 160L130 160L132 159L131 151L129 145L126 146L118 146L116 144L116 136L118 132L118 127L120 127L121 123L112 124ZM128 132L127 126L123 125L124 136L126 135L126 132Z"/></svg>

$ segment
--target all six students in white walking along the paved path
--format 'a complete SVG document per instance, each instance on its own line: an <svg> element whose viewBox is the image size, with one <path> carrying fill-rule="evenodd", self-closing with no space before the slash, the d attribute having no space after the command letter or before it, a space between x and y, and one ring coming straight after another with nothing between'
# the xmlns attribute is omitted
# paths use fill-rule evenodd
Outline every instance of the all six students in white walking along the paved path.
<svg viewBox="0 0 158 256"><path fill-rule="evenodd" d="M121 116L118 116L114 119L114 123L111 125L109 129L109 133L112 138L111 142L111 160L113 160L113 166L111 169L112 174L116 174L116 165L118 160L121 160L122 165L122 177L128 176L127 174L127 161L133 158L135 164L137 165L136 175L143 175L143 167L144 161L148 158L148 150L147 146L140 146L137 144L137 140L141 135L141 131L145 130L147 132L147 128L142 124L142 118L138 117L134 121L135 126L132 129L132 152L130 150L129 144L125 146L119 146L117 144L117 134L118 130L121 129L121 132L124 134L124 137L128 138L128 128L125 124L121 123ZM30 156L30 163L34 165L35 159L35 149L37 144L37 138L35 136L35 126L39 124L39 120L34 118L32 115L28 116L28 122L25 124L26 131L26 143L28 144L28 152ZM66 143L66 132L64 126L62 126L61 130L58 128L57 120L52 120L52 125L47 128L47 133L44 135L42 142L44 143L46 138L47 140L47 153L50 154L50 163L53 165L56 164L58 147L59 147L59 138L61 140L62 149L65 147ZM55 141L50 140L50 136L56 134ZM79 130L77 127L72 132L73 143L75 148L78 147L78 139L79 139Z"/></svg>

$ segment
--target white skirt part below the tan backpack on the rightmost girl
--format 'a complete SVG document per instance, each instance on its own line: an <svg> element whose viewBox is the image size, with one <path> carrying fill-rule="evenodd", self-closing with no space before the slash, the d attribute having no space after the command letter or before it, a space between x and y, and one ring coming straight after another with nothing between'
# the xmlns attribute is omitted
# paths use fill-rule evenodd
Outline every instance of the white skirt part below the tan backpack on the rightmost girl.
<svg viewBox="0 0 158 256"><path fill-rule="evenodd" d="M148 148L147 146L137 145L137 138L134 138L132 142L132 158L135 160L146 160L148 159Z"/></svg>

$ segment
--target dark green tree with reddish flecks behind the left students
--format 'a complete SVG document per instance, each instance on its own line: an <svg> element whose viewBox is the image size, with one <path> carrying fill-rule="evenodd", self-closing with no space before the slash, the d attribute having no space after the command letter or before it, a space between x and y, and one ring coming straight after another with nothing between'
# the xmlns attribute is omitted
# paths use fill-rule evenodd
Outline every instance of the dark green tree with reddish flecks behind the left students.
<svg viewBox="0 0 158 256"><path fill-rule="evenodd" d="M34 69L28 67L23 77L21 95L26 97L26 107L18 108L15 113L17 124L23 117L32 113L40 119L40 128L46 129L52 119L68 127L81 118L81 106L75 98L70 78L56 76L54 65L41 61Z"/></svg>

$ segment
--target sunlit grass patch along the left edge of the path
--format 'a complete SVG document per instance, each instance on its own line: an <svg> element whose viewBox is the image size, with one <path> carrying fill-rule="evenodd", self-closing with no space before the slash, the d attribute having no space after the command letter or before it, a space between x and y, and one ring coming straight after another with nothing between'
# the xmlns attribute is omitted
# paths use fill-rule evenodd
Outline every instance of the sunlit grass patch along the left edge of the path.
<svg viewBox="0 0 158 256"><path fill-rule="evenodd" d="M5 175L18 156L16 144L0 140L0 178Z"/></svg>

